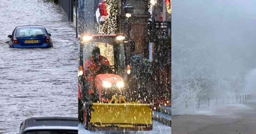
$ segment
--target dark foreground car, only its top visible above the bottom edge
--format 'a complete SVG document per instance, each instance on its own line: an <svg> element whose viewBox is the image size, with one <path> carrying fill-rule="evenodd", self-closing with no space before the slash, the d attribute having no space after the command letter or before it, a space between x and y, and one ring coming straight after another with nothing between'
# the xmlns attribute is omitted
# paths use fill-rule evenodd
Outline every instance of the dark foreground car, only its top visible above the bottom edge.
<svg viewBox="0 0 256 134"><path fill-rule="evenodd" d="M20 124L19 134L78 134L73 117L33 117Z"/></svg>

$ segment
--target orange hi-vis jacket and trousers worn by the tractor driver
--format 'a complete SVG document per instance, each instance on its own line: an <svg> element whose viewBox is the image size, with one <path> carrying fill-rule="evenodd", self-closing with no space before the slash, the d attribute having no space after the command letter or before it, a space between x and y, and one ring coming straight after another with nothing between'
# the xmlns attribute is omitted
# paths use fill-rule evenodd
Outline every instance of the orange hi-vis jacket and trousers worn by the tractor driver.
<svg viewBox="0 0 256 134"><path fill-rule="evenodd" d="M109 61L107 58L103 56L99 56L100 58L100 63L105 65L105 66L110 66ZM93 61L93 57L88 59L85 64L84 64L84 75L85 75L85 80L90 83L89 86L89 94L92 94L94 92L93 90L93 81L94 81L94 74L100 70L100 66L97 66L95 61Z"/></svg>

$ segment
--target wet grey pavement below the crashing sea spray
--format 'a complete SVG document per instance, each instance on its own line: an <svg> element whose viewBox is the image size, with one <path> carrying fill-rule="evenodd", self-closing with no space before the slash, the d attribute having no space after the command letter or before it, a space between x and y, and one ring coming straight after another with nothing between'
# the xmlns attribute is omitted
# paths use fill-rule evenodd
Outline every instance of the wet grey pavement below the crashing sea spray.
<svg viewBox="0 0 256 134"><path fill-rule="evenodd" d="M249 103L248 103L249 102ZM256 101L172 116L172 134L255 134Z"/></svg>

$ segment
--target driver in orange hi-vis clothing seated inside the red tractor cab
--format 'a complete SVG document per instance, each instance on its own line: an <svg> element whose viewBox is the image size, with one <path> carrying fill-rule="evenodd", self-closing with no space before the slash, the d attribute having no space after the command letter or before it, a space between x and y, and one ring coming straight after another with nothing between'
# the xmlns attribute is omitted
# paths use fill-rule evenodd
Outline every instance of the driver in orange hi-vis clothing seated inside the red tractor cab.
<svg viewBox="0 0 256 134"><path fill-rule="evenodd" d="M100 70L100 67L102 64L110 67L108 59L105 58L104 56L101 56L100 48L95 46L92 50L92 57L88 59L84 64L85 80L90 84L88 89L89 94L92 94L94 92L93 81L94 81L95 73Z"/></svg>

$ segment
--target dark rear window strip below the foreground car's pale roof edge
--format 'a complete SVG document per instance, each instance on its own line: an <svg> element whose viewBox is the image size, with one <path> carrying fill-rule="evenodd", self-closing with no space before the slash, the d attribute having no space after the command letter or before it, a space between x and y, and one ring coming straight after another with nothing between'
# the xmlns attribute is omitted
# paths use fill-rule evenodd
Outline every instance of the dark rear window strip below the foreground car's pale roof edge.
<svg viewBox="0 0 256 134"><path fill-rule="evenodd" d="M23 134L78 134L78 130L29 130Z"/></svg>

